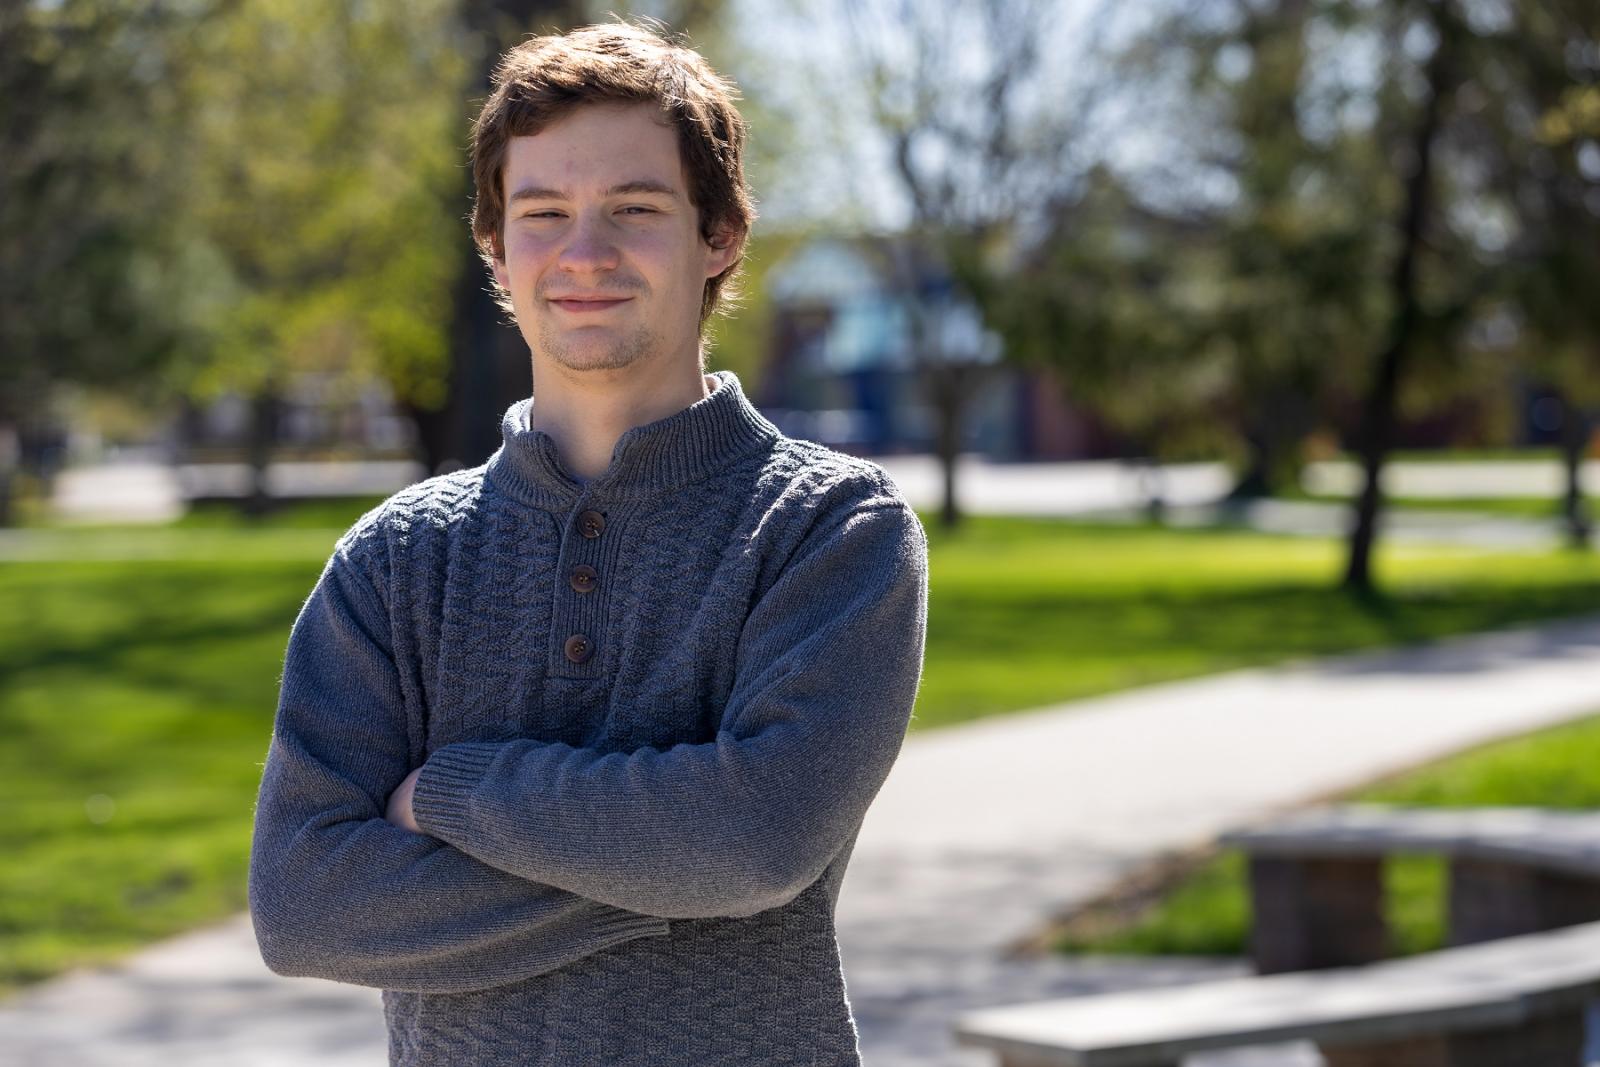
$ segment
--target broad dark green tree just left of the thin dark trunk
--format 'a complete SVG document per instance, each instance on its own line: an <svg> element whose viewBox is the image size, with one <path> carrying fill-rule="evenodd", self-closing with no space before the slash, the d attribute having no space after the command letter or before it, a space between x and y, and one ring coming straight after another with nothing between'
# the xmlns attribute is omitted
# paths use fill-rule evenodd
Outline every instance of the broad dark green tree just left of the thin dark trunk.
<svg viewBox="0 0 1600 1067"><path fill-rule="evenodd" d="M1314 0L1171 5L1134 34L1112 110L1139 131L1056 202L1010 286L1013 350L1154 456L1238 458L1242 498L1293 483L1371 331L1381 160L1338 118L1352 88L1312 77L1338 59L1341 18ZM1130 162L1144 139L1160 150Z"/></svg>

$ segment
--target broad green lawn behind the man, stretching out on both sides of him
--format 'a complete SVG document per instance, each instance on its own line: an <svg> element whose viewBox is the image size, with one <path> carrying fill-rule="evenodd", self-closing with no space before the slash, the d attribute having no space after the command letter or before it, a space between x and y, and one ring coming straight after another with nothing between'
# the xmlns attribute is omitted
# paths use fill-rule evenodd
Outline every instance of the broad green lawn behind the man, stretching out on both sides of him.
<svg viewBox="0 0 1600 1067"><path fill-rule="evenodd" d="M221 918L290 622L366 501L0 547L0 989ZM917 728L1130 685L1600 611L1600 561L976 518L934 533Z"/></svg>

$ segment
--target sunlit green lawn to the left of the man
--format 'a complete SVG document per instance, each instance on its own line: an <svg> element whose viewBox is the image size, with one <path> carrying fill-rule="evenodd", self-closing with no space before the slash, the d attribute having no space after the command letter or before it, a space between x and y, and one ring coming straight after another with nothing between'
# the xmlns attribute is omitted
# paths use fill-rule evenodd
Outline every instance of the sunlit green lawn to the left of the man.
<svg viewBox="0 0 1600 1067"><path fill-rule="evenodd" d="M318 569L0 566L0 987L243 907L286 625Z"/></svg>

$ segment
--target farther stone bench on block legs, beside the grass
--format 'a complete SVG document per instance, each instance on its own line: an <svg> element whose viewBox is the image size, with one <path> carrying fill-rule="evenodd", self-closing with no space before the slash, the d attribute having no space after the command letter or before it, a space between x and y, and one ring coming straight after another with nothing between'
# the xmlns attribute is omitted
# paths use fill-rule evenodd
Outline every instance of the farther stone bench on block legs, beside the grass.
<svg viewBox="0 0 1600 1067"><path fill-rule="evenodd" d="M1382 867L1397 853L1446 857L1451 945L1600 920L1597 813L1344 805L1237 830L1222 843L1250 857L1251 958L1261 974L1392 955Z"/></svg>

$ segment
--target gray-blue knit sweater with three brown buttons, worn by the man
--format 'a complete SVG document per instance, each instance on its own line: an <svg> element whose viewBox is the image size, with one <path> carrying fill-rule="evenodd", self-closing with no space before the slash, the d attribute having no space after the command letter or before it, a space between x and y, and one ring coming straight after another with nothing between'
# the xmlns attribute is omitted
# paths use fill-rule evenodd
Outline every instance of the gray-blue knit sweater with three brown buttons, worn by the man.
<svg viewBox="0 0 1600 1067"><path fill-rule="evenodd" d="M531 402L338 544L250 861L280 974L384 990L390 1064L856 1064L834 904L922 669L883 475L715 390L579 485ZM384 821L414 768L424 833Z"/></svg>

